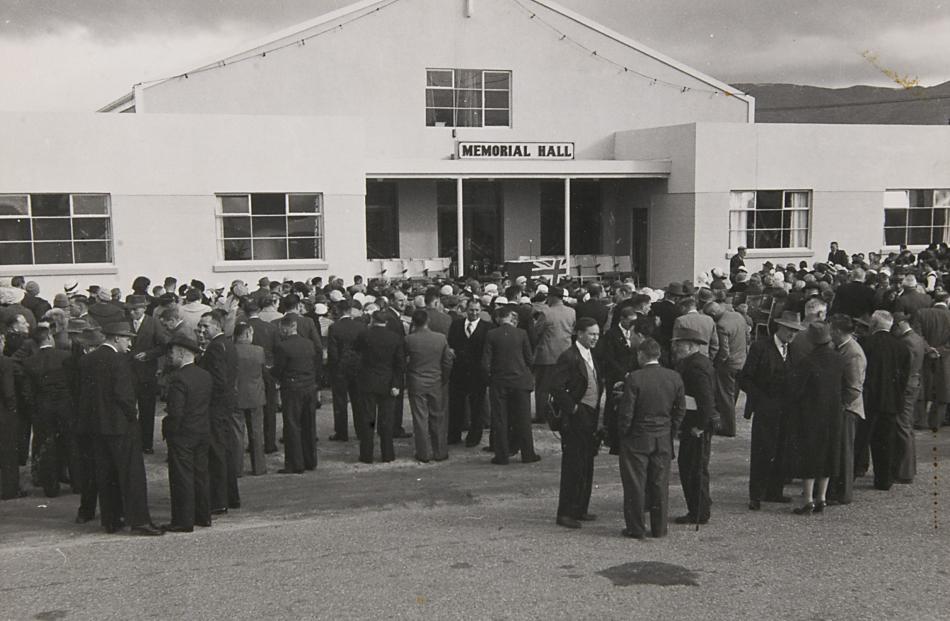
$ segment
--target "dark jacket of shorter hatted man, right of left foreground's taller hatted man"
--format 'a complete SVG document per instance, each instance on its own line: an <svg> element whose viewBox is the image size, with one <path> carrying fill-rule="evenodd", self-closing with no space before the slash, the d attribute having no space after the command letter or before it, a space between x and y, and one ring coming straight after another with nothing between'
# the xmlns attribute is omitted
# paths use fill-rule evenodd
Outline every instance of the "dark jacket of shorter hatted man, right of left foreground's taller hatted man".
<svg viewBox="0 0 950 621"><path fill-rule="evenodd" d="M168 404L162 420L162 435L180 443L206 440L211 433L213 380L194 364L176 369L168 379Z"/></svg>

